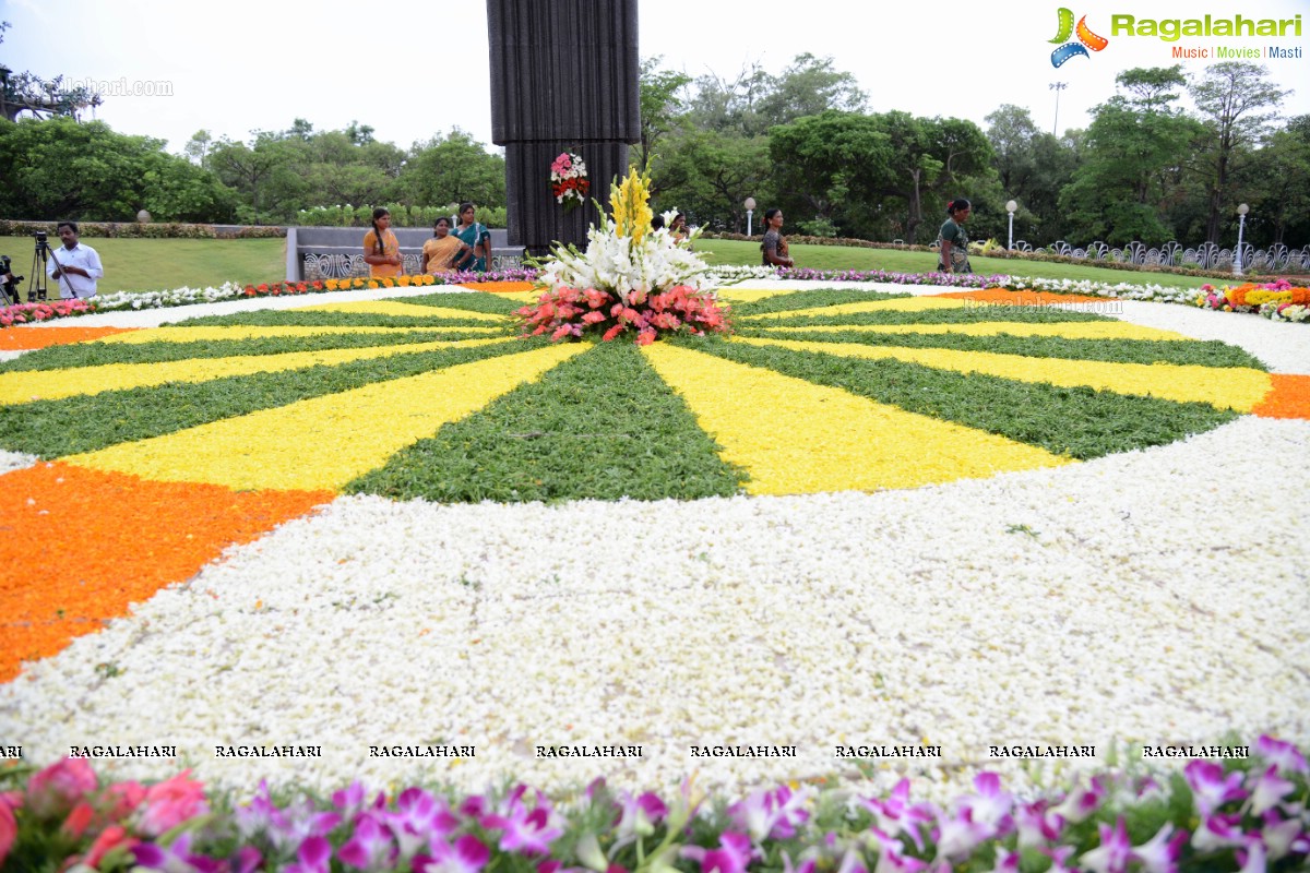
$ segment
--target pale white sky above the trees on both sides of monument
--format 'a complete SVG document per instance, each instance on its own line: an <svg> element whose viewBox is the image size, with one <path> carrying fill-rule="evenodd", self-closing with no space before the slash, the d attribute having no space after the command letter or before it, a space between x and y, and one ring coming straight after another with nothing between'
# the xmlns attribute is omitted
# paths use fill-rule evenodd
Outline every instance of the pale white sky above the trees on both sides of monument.
<svg viewBox="0 0 1310 873"><path fill-rule="evenodd" d="M1060 0L954 3L945 12L943 4L857 0L639 0L639 45L642 58L660 56L665 69L726 80L753 64L779 73L810 52L853 73L870 111L965 118L985 130L989 113L1014 103L1039 128L1060 131L1086 127L1089 110L1114 96L1124 69L1178 63L1200 75L1214 63L1176 60L1175 46L1276 46L1301 58L1256 63L1281 88L1296 89L1284 115L1310 113L1310 0L1064 3L1107 43L1058 68L1052 51L1062 43L1051 41ZM1231 20L1238 9L1255 20L1300 14L1302 35L1289 29L1284 37L1166 42L1112 33L1112 16L1132 16L1140 29L1144 20ZM249 140L254 130L286 130L296 118L314 130L359 120L402 148L453 128L491 145L482 0L0 0L0 20L12 24L0 63L97 86L105 103L96 118L123 134L166 140L172 152L202 128ZM1191 107L1186 98L1183 105Z"/></svg>

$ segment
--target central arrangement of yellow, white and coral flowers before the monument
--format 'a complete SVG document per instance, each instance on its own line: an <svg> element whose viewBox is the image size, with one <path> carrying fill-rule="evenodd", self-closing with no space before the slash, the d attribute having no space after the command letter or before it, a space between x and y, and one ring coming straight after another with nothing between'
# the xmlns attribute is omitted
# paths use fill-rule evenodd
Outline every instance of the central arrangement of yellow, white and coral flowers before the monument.
<svg viewBox="0 0 1310 873"><path fill-rule="evenodd" d="M555 246L541 264L540 300L515 313L524 330L557 342L633 331L641 346L663 334L726 332L728 308L701 287L707 266L690 249L697 232L679 241L651 229L650 175L629 170L609 203L612 216L587 232L587 251Z"/></svg>

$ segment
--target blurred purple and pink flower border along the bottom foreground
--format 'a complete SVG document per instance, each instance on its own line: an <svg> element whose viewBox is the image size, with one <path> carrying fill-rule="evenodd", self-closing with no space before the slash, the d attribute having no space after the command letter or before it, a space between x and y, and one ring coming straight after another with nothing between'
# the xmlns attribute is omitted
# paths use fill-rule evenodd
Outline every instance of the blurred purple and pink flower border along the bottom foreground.
<svg viewBox="0 0 1310 873"><path fill-rule="evenodd" d="M597 779L566 804L527 785L458 798L355 783L330 798L280 800L263 784L231 813L211 811L190 771L101 788L85 759L64 758L0 793L0 865L8 856L14 869L252 873L1303 869L1305 757L1271 737L1254 751L1224 764L1192 758L1172 779L1108 772L1038 798L982 772L946 808L912 800L908 779L887 797L793 784L732 804L709 802L690 781L662 797Z"/></svg>

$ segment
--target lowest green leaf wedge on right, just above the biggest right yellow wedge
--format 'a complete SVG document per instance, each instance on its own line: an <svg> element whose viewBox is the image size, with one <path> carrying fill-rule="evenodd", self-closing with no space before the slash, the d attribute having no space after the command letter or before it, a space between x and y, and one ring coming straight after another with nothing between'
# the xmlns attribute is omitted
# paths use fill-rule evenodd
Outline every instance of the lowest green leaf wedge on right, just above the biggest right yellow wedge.
<svg viewBox="0 0 1310 873"><path fill-rule="evenodd" d="M1235 412L1216 410L1208 403L1175 403L1090 387L1017 382L901 361L865 361L719 339L701 340L694 348L1081 461L1165 445L1238 418Z"/></svg>

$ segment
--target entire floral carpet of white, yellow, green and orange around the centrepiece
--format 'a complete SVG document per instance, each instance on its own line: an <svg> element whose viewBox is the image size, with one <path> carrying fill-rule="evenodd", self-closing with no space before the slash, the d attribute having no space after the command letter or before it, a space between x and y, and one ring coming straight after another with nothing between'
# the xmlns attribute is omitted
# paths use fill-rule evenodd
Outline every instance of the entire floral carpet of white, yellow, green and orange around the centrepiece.
<svg viewBox="0 0 1310 873"><path fill-rule="evenodd" d="M727 288L731 338L642 348L431 288L5 331L0 741L942 796L1310 742L1303 326L913 291Z"/></svg>

